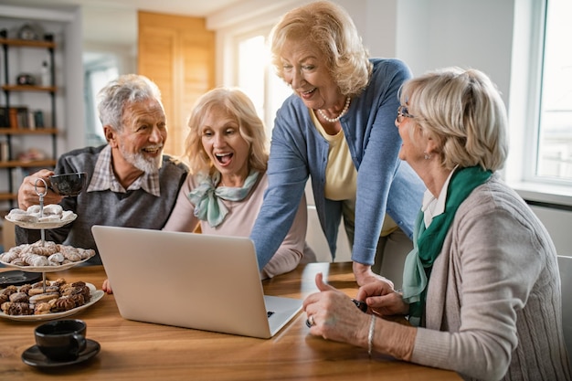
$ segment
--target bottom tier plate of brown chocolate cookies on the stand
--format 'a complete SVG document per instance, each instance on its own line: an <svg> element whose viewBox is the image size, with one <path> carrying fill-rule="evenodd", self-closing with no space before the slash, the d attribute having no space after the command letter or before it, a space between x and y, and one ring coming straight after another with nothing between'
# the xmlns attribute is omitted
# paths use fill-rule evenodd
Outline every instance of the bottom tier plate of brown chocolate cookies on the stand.
<svg viewBox="0 0 572 381"><path fill-rule="evenodd" d="M0 290L0 318L20 322L54 320L85 310L99 302L104 293L91 283L64 279L47 280Z"/></svg>

